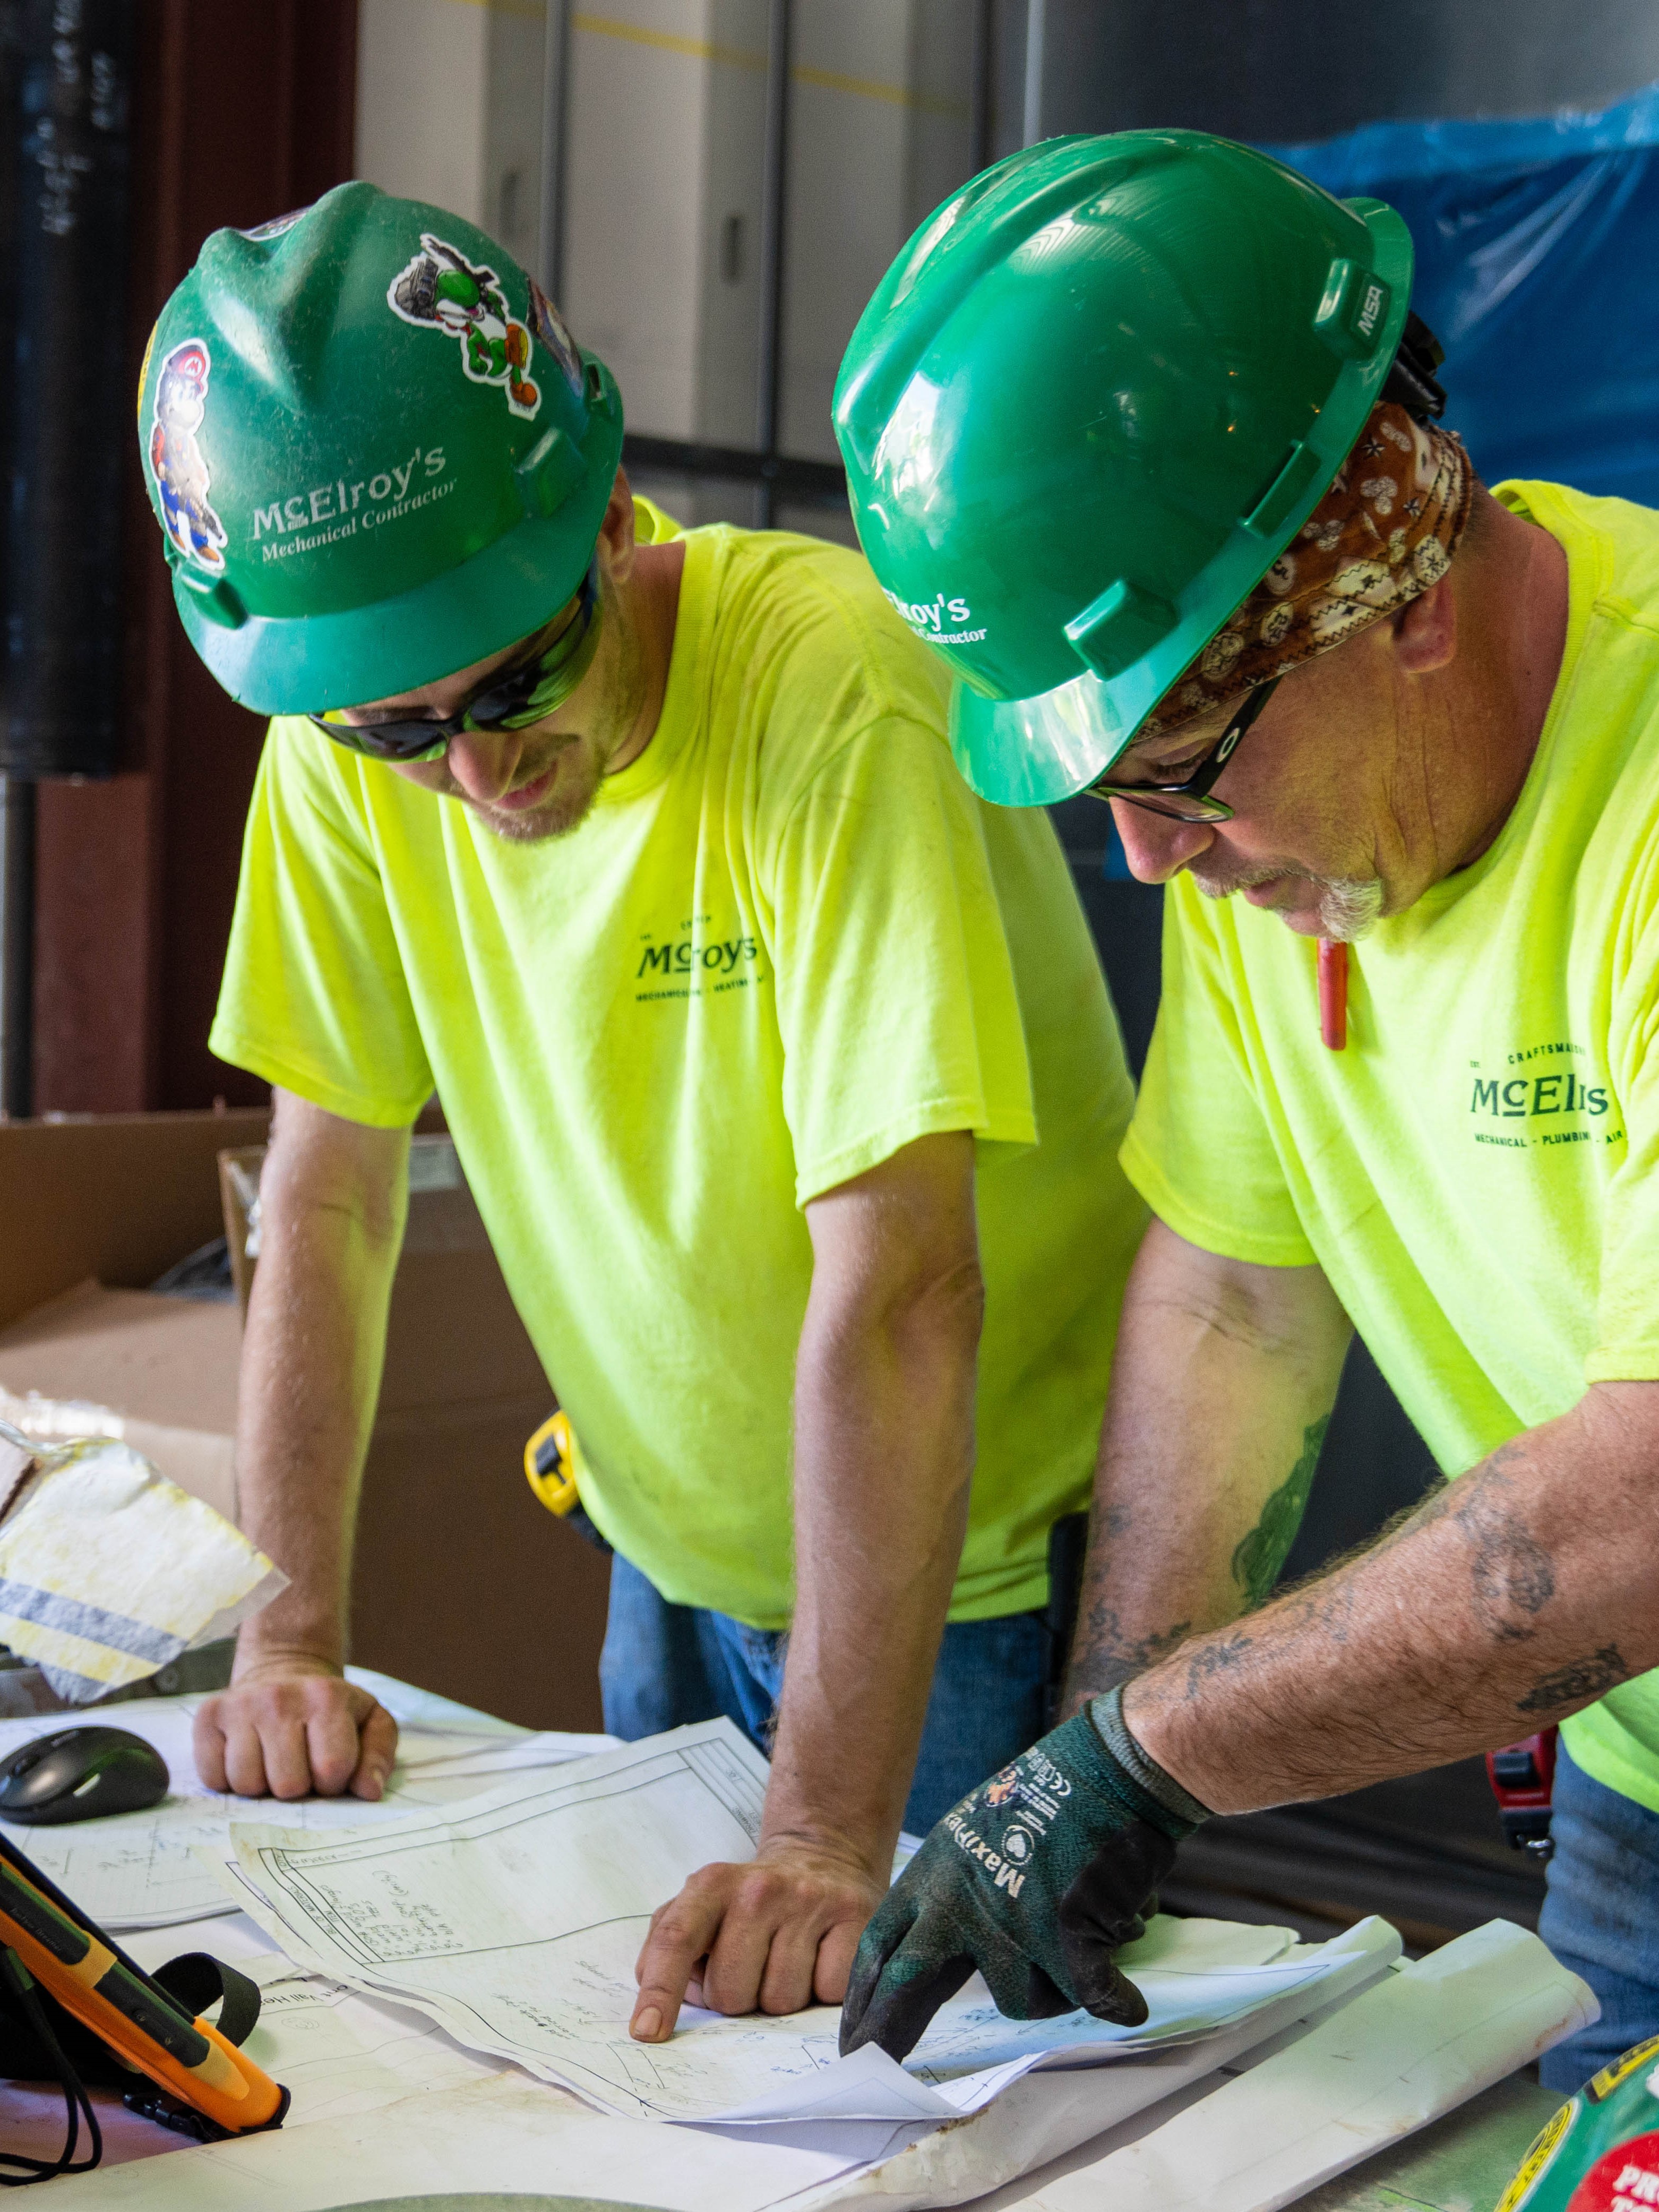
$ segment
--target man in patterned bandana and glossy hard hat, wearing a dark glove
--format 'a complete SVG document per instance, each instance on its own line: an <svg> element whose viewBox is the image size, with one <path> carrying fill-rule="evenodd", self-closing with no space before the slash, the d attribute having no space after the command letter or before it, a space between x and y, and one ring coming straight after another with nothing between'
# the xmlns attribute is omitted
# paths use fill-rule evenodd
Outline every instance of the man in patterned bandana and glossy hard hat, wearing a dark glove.
<svg viewBox="0 0 1659 2212"><path fill-rule="evenodd" d="M1544 2077L1659 2031L1659 515L1482 487L1409 288L1378 201L1062 139L843 365L969 783L1099 792L1168 885L1073 1717L929 1836L847 2046L975 1964L1141 2020L1113 1951L1197 1823L1557 1721L1542 1933L1604 2013ZM1356 1327L1458 1480L1274 1599Z"/></svg>

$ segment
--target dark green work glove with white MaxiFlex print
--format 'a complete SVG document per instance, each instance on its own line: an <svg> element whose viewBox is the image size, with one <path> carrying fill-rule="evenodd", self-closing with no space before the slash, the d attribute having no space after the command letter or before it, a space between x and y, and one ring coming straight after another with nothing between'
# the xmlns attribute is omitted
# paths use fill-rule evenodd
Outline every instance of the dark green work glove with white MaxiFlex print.
<svg viewBox="0 0 1659 2212"><path fill-rule="evenodd" d="M1113 1964L1175 1845L1210 1818L1124 1725L1121 1690L969 1792L865 1929L841 2051L902 2059L978 1966L1009 2020L1079 2006L1139 2026L1146 1997Z"/></svg>

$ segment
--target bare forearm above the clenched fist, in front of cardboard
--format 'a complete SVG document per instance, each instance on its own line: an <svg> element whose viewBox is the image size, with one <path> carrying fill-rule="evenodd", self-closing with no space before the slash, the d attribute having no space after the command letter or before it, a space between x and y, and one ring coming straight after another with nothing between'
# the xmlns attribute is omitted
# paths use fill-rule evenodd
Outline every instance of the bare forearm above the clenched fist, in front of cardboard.
<svg viewBox="0 0 1659 2212"><path fill-rule="evenodd" d="M352 1522L403 1237L398 1137L363 1133L398 1166L389 1186L380 1175L365 1186L299 1141L301 1117L316 1108L281 1104L261 1179L237 1422L241 1520L290 1588L243 1628L241 1672L285 1655L345 1657Z"/></svg>

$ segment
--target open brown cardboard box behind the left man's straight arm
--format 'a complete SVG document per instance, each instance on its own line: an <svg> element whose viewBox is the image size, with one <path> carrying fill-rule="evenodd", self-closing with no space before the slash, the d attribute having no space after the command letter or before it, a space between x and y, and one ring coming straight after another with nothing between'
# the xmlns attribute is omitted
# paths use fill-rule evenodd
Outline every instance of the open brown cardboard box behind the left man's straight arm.
<svg viewBox="0 0 1659 2212"><path fill-rule="evenodd" d="M248 1279L219 1152L254 1170L254 1190L265 1135L263 1113L0 1124L0 1385L108 1409L221 1511L226 1493L234 1504L241 1316L146 1285L228 1228ZM551 1402L453 1146L416 1139L358 1517L354 1655L533 1728L597 1728L611 1568L522 1473Z"/></svg>

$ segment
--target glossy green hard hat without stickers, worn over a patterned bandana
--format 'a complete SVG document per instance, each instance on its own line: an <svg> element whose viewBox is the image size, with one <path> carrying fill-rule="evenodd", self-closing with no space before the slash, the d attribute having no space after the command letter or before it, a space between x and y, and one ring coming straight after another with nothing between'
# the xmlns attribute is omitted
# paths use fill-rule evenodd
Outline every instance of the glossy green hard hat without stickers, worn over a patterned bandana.
<svg viewBox="0 0 1659 2212"><path fill-rule="evenodd" d="M922 223L834 418L980 796L1110 768L1329 489L1409 292L1391 208L1201 131L1048 139Z"/></svg>

